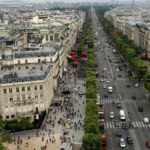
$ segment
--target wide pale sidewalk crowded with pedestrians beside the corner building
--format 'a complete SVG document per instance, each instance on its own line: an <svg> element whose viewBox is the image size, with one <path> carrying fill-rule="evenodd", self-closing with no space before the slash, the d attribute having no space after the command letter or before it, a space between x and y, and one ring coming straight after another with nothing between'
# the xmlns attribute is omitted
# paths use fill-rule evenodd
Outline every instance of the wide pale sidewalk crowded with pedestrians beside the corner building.
<svg viewBox="0 0 150 150"><path fill-rule="evenodd" d="M16 133L16 139L18 140L19 137L22 144L8 144L9 150L17 150L17 146L20 148L18 150L41 150L41 146L45 145L46 149L43 150L60 150L61 148L70 150L73 143L82 143L86 98L78 92L85 93L85 80L77 79L75 71L76 69L70 66L63 77L64 84L61 84L57 90L57 98L60 96L64 99L63 106L50 107L49 114L41 129L38 130L39 137L37 137L37 130ZM63 90L69 90L71 94L61 95ZM30 139L27 139L28 136ZM53 136L56 143L50 141ZM28 147L25 147L26 143Z"/></svg>

